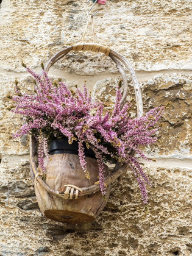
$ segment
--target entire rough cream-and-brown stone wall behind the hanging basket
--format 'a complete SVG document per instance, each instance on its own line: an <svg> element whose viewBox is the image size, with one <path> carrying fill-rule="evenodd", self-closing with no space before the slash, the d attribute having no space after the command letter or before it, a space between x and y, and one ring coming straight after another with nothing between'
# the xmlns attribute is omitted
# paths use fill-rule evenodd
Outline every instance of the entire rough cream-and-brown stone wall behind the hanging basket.
<svg viewBox="0 0 192 256"><path fill-rule="evenodd" d="M7 110L12 104L7 94L13 93L15 78L23 91L33 90L21 60L40 71L41 61L79 42L90 5L82 0L2 0L1 255L192 255L191 0L108 0L94 7L99 10L96 42L130 60L142 87L144 111L170 102L158 143L145 149L156 160L144 167L154 181L148 210L127 171L121 182L112 184L108 204L93 223L69 226L40 213L29 176L29 138L10 139L23 119ZM85 38L93 40L91 26ZM50 74L71 87L87 80L95 97L114 102L119 74L102 54L70 52Z"/></svg>

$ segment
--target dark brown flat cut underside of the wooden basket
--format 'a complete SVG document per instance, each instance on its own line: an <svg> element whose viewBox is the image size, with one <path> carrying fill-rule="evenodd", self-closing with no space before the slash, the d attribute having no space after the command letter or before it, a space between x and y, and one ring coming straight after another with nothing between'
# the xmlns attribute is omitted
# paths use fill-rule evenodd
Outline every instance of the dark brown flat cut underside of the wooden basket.
<svg viewBox="0 0 192 256"><path fill-rule="evenodd" d="M69 212L65 210L45 210L44 216L66 224L82 224L95 220L94 216L86 213Z"/></svg>

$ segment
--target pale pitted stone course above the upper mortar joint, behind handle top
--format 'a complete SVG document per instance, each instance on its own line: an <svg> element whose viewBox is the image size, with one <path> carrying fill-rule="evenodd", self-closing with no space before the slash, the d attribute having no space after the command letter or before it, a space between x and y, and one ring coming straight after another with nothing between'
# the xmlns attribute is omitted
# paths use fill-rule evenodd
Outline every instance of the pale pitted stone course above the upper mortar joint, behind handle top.
<svg viewBox="0 0 192 256"><path fill-rule="evenodd" d="M90 6L83 0L2 1L0 69L23 71L21 59L34 68L66 45L79 43ZM190 0L108 1L95 10L96 42L124 54L136 69L191 69ZM91 26L85 38L93 41ZM58 67L77 74L114 72L109 59L91 56L72 53Z"/></svg>

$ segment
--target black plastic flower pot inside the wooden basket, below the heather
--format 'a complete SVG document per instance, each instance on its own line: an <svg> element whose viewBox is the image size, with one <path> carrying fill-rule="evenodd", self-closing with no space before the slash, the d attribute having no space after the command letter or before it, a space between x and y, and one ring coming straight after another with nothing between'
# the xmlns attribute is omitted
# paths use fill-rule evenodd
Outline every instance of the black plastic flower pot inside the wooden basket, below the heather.
<svg viewBox="0 0 192 256"><path fill-rule="evenodd" d="M96 158L92 149L88 149L84 144L85 157ZM52 140L49 143L49 155L54 154L73 154L78 155L78 142L68 143L68 138Z"/></svg>

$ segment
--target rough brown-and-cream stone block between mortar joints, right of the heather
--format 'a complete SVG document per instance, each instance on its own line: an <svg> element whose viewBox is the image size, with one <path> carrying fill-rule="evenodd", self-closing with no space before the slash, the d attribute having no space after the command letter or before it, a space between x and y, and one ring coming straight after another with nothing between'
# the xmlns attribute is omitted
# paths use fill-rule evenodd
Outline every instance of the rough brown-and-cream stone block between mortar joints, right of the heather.
<svg viewBox="0 0 192 256"><path fill-rule="evenodd" d="M93 96L96 100L106 102L110 110L115 104L115 90L120 77L99 80L94 85ZM129 80L129 77L127 77ZM158 74L147 82L141 82L144 113L151 108L165 106L162 116L162 128L158 132L158 141L146 148L150 157L191 158L191 105L192 77L182 74ZM130 80L129 80L130 81ZM129 84L129 96L132 101L132 116L136 115L134 90Z"/></svg>

